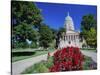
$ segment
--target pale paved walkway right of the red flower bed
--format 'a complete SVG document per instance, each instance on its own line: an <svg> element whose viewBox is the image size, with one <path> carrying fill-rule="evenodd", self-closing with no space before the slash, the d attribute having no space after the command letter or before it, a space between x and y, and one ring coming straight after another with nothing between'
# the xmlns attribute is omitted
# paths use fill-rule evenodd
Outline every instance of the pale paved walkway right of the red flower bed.
<svg viewBox="0 0 100 75"><path fill-rule="evenodd" d="M86 56L89 56L92 58L92 60L97 63L97 53L96 52L93 52L93 51L88 51L88 50L81 50L81 52L86 55Z"/></svg>

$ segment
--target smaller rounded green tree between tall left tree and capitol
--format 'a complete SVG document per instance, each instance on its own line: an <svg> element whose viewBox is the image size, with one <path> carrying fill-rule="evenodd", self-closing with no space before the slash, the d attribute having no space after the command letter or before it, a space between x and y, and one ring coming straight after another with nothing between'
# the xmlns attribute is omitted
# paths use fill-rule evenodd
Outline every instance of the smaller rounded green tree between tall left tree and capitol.
<svg viewBox="0 0 100 75"><path fill-rule="evenodd" d="M40 45L44 48L50 46L50 43L53 40L52 30L45 24L40 27Z"/></svg>

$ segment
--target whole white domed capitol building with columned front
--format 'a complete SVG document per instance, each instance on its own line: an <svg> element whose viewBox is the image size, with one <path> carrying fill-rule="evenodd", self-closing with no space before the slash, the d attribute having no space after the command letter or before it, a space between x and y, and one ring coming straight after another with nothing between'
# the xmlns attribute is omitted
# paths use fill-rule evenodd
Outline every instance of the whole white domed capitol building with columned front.
<svg viewBox="0 0 100 75"><path fill-rule="evenodd" d="M74 22L69 13L67 14L67 17L65 17L64 27L66 32L64 32L62 37L60 37L58 48L64 48L67 46L77 46L81 48L82 44L79 37L80 32L75 31Z"/></svg>

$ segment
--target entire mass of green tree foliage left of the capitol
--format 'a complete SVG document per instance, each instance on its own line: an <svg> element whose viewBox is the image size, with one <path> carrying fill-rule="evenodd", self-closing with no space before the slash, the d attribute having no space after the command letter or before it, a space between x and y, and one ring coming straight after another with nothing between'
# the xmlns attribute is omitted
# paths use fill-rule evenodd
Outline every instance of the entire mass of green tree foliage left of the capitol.
<svg viewBox="0 0 100 75"><path fill-rule="evenodd" d="M40 9L33 2L12 1L12 48L49 47L54 29L42 23ZM32 42L29 46L28 42ZM38 43L38 44L37 44Z"/></svg>

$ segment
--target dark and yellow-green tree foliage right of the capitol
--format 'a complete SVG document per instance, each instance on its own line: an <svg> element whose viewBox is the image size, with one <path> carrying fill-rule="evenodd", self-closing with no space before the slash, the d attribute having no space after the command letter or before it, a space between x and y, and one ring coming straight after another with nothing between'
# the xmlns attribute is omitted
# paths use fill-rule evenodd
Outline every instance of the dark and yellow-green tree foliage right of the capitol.
<svg viewBox="0 0 100 75"><path fill-rule="evenodd" d="M97 24L93 15L85 15L81 22L81 36L86 40L86 43L91 47L97 46Z"/></svg>

